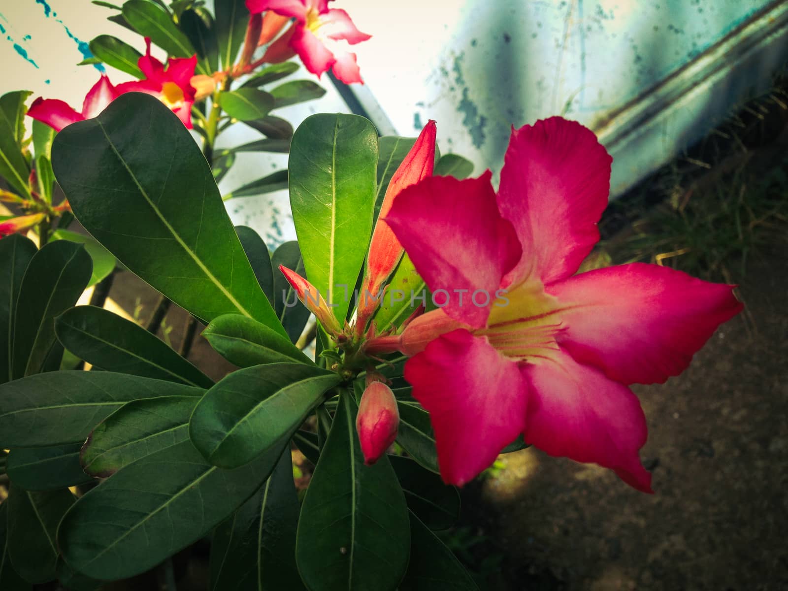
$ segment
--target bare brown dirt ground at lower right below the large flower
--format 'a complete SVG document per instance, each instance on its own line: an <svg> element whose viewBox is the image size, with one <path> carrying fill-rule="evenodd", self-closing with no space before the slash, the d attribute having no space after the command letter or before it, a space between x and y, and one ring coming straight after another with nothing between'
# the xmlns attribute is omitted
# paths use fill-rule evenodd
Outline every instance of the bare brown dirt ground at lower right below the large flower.
<svg viewBox="0 0 788 591"><path fill-rule="evenodd" d="M788 589L788 252L749 263L746 314L692 366L635 387L654 495L533 449L481 487L490 589ZM476 495L473 495L476 496Z"/></svg>

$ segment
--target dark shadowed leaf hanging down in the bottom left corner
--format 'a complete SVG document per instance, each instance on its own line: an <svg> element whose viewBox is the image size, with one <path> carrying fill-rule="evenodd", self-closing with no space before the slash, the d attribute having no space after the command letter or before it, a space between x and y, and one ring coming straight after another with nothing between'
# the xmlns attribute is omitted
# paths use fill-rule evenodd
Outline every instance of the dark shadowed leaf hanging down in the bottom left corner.
<svg viewBox="0 0 788 591"><path fill-rule="evenodd" d="M25 581L45 583L56 576L58 545L55 532L65 511L74 503L68 489L29 492L17 485L8 495L8 549L13 564Z"/></svg>

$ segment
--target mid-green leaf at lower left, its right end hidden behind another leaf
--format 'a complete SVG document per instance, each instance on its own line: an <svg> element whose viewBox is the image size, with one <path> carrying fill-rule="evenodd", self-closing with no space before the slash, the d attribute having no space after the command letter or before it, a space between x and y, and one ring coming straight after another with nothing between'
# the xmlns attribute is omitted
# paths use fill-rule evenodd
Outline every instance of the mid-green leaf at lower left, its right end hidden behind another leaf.
<svg viewBox="0 0 788 591"><path fill-rule="evenodd" d="M123 466L189 438L198 396L158 396L125 403L100 422L82 448L87 474L107 478Z"/></svg>

